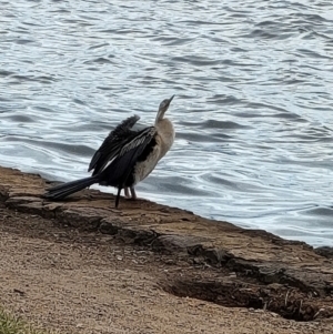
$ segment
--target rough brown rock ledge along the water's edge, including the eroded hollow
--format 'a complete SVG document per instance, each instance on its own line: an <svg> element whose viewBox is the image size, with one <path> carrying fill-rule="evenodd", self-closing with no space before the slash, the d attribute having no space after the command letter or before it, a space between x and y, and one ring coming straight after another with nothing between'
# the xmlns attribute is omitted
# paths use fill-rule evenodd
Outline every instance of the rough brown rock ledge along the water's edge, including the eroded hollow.
<svg viewBox="0 0 333 334"><path fill-rule="evenodd" d="M39 175L0 168L0 204L52 217L52 222L78 231L110 234L110 242L118 239L155 252L181 254L180 259L195 266L215 269L216 277L210 281L168 282L170 291L181 296L218 304L223 304L223 296L228 296L233 306L264 307L305 321L319 316L321 308L331 310L327 305L333 302L332 247L313 250L303 242L144 200L121 199L119 210L114 210L114 196L95 190L51 202L41 198L47 183ZM222 273L226 281L221 280ZM332 313L323 314L329 317Z"/></svg>

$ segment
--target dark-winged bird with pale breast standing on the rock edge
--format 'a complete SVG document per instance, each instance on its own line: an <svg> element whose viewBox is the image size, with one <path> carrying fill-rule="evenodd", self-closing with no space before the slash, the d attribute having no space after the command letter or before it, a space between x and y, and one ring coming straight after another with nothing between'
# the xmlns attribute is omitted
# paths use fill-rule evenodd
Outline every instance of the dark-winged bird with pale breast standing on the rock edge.
<svg viewBox="0 0 333 334"><path fill-rule="evenodd" d="M91 176L50 188L43 198L62 200L97 183L118 189L115 208L119 206L122 189L127 198L137 200L134 186L154 170L174 142L173 124L164 118L173 98L174 95L160 103L152 126L134 130L133 126L140 119L138 115L122 121L93 154L88 168L88 171L93 171Z"/></svg>

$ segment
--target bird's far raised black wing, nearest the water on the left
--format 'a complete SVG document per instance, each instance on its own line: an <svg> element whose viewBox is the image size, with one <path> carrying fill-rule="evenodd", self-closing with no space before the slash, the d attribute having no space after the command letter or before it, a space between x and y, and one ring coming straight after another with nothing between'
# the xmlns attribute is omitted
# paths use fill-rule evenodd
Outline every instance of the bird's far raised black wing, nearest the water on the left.
<svg viewBox="0 0 333 334"><path fill-rule="evenodd" d="M131 129L138 122L140 118L138 115L130 117L122 121L110 134L104 139L101 146L93 154L89 164L88 171L93 170L92 175L101 172L104 166L121 151L123 145L130 141L137 131Z"/></svg>

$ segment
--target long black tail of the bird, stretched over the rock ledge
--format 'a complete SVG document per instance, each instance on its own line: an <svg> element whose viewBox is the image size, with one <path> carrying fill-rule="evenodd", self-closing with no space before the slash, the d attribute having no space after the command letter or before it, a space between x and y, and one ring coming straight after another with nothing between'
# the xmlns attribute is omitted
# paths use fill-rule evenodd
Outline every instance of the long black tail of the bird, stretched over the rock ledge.
<svg viewBox="0 0 333 334"><path fill-rule="evenodd" d="M90 178L63 183L63 184L48 189L48 192L46 194L43 194L43 198L51 199L51 200L62 200L62 199L69 196L70 194L73 194L73 193L75 193L87 186L90 186L97 182L98 182L98 178L90 176Z"/></svg>

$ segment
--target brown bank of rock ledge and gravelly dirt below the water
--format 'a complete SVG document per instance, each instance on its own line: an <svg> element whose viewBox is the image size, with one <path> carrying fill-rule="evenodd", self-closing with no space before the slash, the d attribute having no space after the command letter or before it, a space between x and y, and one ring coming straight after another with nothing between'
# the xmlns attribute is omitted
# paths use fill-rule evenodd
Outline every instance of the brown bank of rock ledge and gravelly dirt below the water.
<svg viewBox="0 0 333 334"><path fill-rule="evenodd" d="M61 333L332 333L333 261L148 201L40 198L0 169L0 303Z"/></svg>

